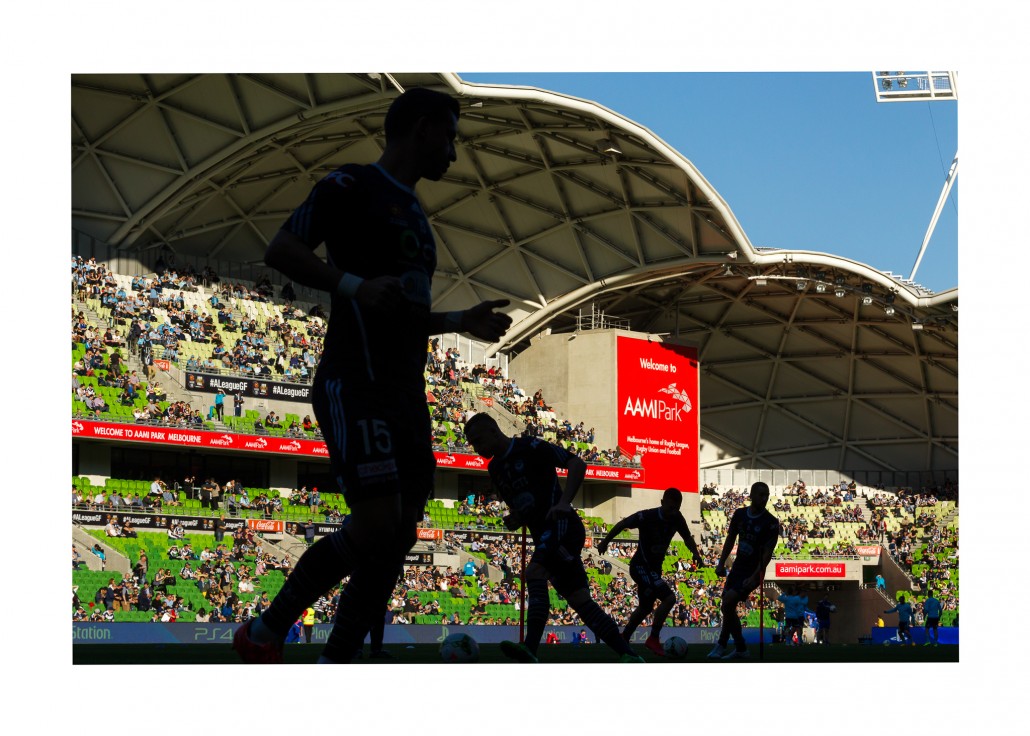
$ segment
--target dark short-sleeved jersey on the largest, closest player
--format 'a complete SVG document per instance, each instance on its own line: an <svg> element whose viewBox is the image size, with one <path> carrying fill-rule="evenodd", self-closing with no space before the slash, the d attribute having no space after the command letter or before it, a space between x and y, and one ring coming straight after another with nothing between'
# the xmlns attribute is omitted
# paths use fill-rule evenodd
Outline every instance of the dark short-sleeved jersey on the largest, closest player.
<svg viewBox="0 0 1030 736"><path fill-rule="evenodd" d="M333 295L318 364L320 378L349 385L387 381L424 392L425 340L437 248L415 192L377 165L347 164L311 189L283 229L310 248L325 243L329 262L363 279L397 276L405 300L389 315Z"/></svg>

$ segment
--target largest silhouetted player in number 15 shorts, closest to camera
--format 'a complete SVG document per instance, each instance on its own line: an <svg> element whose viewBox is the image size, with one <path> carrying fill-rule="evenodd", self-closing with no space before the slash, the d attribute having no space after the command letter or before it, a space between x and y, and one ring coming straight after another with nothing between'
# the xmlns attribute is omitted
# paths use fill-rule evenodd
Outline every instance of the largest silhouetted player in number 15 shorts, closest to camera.
<svg viewBox="0 0 1030 736"><path fill-rule="evenodd" d="M493 311L507 301L431 311L437 249L414 187L440 180L456 160L458 112L439 92L402 94L386 112L379 160L325 176L269 243L266 264L332 294L312 407L351 514L308 548L271 606L237 629L233 647L245 662L281 662L298 615L348 574L318 661L347 663L360 651L433 492L426 341L465 331L494 342L511 325ZM314 253L322 243L325 261Z"/></svg>

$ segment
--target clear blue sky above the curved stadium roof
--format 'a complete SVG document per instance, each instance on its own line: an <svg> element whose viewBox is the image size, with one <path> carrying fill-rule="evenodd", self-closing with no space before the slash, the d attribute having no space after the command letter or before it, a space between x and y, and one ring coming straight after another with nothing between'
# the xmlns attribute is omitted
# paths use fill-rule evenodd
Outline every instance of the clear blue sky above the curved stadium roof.
<svg viewBox="0 0 1030 736"><path fill-rule="evenodd" d="M958 151L958 103L878 103L869 71L472 73L597 102L690 160L758 246L844 255L907 278ZM916 281L958 285L952 188Z"/></svg>

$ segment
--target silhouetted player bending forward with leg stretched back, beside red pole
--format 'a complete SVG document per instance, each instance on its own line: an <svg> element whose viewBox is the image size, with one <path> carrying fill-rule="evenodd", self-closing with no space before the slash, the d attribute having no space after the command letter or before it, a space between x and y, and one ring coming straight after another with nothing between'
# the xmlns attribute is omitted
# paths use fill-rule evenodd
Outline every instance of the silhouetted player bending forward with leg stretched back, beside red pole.
<svg viewBox="0 0 1030 736"><path fill-rule="evenodd" d="M572 507L572 499L586 476L586 463L543 440L510 437L486 414L477 414L466 422L465 436L477 454L490 460L490 481L510 510L505 525L512 530L527 527L535 547L522 571L526 589L525 643L503 641L501 651L519 662L538 661L537 652L550 614L550 580L594 635L615 650L620 662L643 662L587 588L581 557L586 529ZM563 491L555 467L569 470Z"/></svg>

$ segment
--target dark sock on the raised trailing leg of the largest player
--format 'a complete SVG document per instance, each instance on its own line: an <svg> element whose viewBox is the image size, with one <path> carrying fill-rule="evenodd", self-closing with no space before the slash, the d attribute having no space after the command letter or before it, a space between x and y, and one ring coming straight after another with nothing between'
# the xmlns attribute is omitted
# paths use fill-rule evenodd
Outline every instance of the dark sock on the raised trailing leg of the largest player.
<svg viewBox="0 0 1030 736"><path fill-rule="evenodd" d="M309 547L276 594L261 624L251 628L258 643L284 639L289 627L311 603L354 569L354 552L346 529L323 536ZM268 637L268 638L263 638Z"/></svg>

